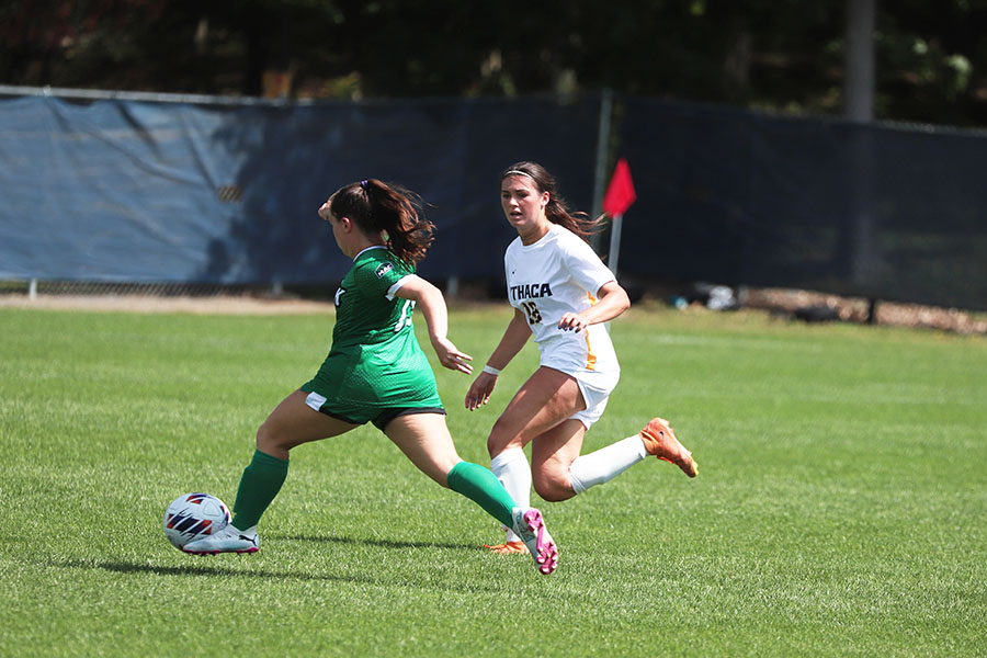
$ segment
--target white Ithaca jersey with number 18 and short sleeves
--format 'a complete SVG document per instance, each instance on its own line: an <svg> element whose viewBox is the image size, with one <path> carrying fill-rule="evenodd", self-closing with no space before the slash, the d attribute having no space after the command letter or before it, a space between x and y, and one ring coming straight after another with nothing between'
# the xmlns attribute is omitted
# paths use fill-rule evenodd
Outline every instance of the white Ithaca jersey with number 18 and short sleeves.
<svg viewBox="0 0 987 658"><path fill-rule="evenodd" d="M564 331L566 313L581 313L597 303L600 287L613 273L582 238L553 224L534 245L514 239L503 256L508 299L527 318L538 345L541 364L568 373L598 388L612 390L620 364L602 324Z"/></svg>

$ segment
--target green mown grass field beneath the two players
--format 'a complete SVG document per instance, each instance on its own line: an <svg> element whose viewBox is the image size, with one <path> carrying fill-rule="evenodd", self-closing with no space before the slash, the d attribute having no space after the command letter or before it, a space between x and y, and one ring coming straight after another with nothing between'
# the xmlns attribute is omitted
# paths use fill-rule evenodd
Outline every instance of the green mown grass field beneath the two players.
<svg viewBox="0 0 987 658"><path fill-rule="evenodd" d="M451 338L483 363L508 313L456 309ZM232 503L330 331L0 309L0 656L987 655L983 338L629 311L587 449L665 415L702 473L648 460L544 503L549 577L373 428L293 452L258 554L172 548L167 504ZM465 458L535 363L472 415L439 373Z"/></svg>

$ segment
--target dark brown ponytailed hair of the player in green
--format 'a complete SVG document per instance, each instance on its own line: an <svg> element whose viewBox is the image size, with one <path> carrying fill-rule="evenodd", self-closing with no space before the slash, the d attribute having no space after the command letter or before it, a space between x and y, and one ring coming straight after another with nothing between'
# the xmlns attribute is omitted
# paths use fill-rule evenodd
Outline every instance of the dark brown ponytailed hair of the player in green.
<svg viewBox="0 0 987 658"><path fill-rule="evenodd" d="M367 179L332 195L329 211L349 217L365 234L386 234L387 248L409 265L418 264L431 246L434 225L422 215L421 197L399 185Z"/></svg>

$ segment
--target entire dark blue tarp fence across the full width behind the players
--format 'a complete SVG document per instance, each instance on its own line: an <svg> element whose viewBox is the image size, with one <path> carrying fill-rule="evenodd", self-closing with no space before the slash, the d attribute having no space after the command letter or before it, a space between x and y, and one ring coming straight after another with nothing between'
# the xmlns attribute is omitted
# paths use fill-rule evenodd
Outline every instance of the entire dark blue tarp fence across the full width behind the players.
<svg viewBox="0 0 987 658"><path fill-rule="evenodd" d="M987 308L977 132L622 94L611 105L601 94L306 104L4 93L0 280L334 285L349 263L316 211L371 177L431 204L422 274L500 279L514 237L500 170L537 160L591 211L598 162L622 156L638 197L622 277Z"/></svg>

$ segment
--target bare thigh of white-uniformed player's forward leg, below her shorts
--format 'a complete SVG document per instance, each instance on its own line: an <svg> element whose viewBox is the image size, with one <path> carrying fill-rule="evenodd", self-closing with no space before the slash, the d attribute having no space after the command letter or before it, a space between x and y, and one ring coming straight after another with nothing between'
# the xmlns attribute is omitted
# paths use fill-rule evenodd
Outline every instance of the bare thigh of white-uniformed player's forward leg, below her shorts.
<svg viewBox="0 0 987 658"><path fill-rule="evenodd" d="M552 367L538 367L494 423L488 441L490 454L524 446L585 408L575 377Z"/></svg>

